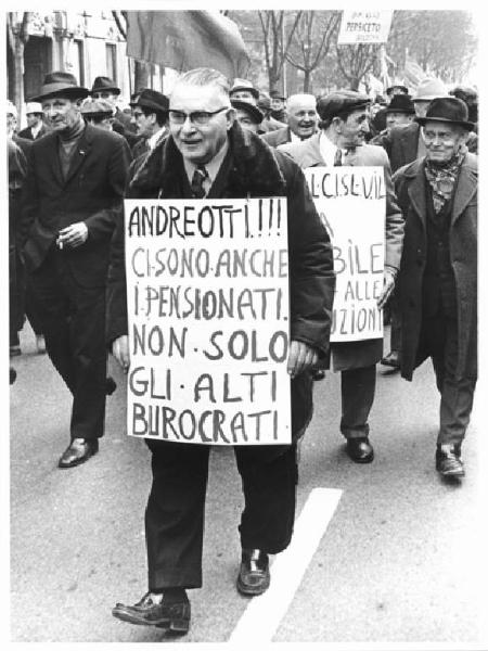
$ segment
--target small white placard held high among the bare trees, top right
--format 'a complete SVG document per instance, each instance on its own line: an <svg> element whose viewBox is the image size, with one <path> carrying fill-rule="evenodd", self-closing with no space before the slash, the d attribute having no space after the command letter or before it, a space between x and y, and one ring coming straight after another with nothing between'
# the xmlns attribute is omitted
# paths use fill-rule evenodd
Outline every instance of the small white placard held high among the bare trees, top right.
<svg viewBox="0 0 488 651"><path fill-rule="evenodd" d="M391 18L390 10L344 10L337 43L386 43Z"/></svg>

